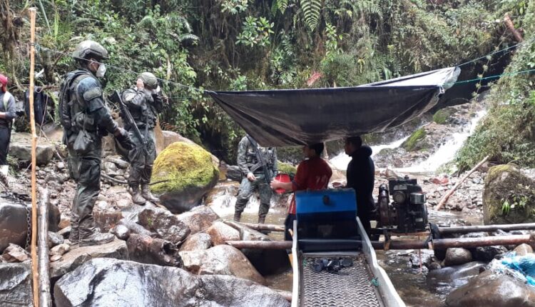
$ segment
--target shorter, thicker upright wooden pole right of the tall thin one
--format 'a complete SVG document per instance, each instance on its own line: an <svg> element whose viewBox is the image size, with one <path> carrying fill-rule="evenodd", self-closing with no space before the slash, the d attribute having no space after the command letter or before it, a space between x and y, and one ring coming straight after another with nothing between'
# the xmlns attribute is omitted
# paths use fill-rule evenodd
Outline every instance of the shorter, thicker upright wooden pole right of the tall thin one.
<svg viewBox="0 0 535 307"><path fill-rule="evenodd" d="M37 253L39 256L39 305L52 306L49 278L49 190L41 191L39 203L39 232L37 233Z"/></svg>

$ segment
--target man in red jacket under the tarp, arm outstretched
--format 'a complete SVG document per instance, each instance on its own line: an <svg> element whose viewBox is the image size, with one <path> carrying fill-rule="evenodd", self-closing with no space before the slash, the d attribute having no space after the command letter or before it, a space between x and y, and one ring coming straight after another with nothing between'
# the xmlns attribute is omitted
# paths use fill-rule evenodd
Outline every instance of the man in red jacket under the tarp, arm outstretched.
<svg viewBox="0 0 535 307"><path fill-rule="evenodd" d="M323 143L307 145L303 147L305 160L297 166L297 173L292 182L271 181L271 188L284 188L286 191L323 190L327 188L332 175L330 166L320 155L323 152ZM288 216L285 221L285 240L292 241L292 236L288 232L293 228L295 221L295 194L292 196Z"/></svg>

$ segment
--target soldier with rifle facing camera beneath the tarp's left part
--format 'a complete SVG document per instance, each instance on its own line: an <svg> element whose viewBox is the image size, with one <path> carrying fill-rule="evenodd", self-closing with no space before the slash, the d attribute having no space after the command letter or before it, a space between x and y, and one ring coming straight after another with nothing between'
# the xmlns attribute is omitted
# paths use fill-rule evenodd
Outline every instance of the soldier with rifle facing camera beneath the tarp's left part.
<svg viewBox="0 0 535 307"><path fill-rule="evenodd" d="M250 196L255 189L258 189L260 193L260 208L258 208L258 223L265 222L265 216L267 211L270 210L270 200L272 196L272 190L270 184L267 183L263 165L258 161L256 155L255 145L252 144L249 139L250 136L244 136L238 145L238 166L242 171L243 176L240 184L240 192L238 193L238 199L234 207L234 221L240 221L241 214L247 205ZM253 143L256 143L253 140ZM263 155L263 160L267 166L267 172L271 177L275 176L277 170L277 152L274 147L258 147L258 150ZM270 180L268 178L267 180Z"/></svg>

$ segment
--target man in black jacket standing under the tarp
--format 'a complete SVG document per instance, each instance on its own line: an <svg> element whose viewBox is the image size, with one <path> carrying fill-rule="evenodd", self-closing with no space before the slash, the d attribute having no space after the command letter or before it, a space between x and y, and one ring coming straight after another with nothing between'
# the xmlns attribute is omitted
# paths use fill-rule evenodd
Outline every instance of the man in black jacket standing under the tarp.
<svg viewBox="0 0 535 307"><path fill-rule="evenodd" d="M352 136L345 140L345 154L352 159L347 165L347 186L355 189L357 194L357 216L362 226L370 236L371 212L374 207L373 187L375 181L375 166L370 146L362 146L360 136Z"/></svg>

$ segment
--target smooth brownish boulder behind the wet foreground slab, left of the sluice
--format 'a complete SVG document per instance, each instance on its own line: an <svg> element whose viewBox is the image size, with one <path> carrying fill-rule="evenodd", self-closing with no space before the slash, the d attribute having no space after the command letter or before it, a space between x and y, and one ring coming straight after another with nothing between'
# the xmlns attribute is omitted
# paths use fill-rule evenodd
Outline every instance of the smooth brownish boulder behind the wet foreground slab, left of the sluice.
<svg viewBox="0 0 535 307"><path fill-rule="evenodd" d="M266 284L253 264L233 246L218 245L206 251L180 251L178 254L182 258L183 268L191 273L233 275L262 285Z"/></svg>

